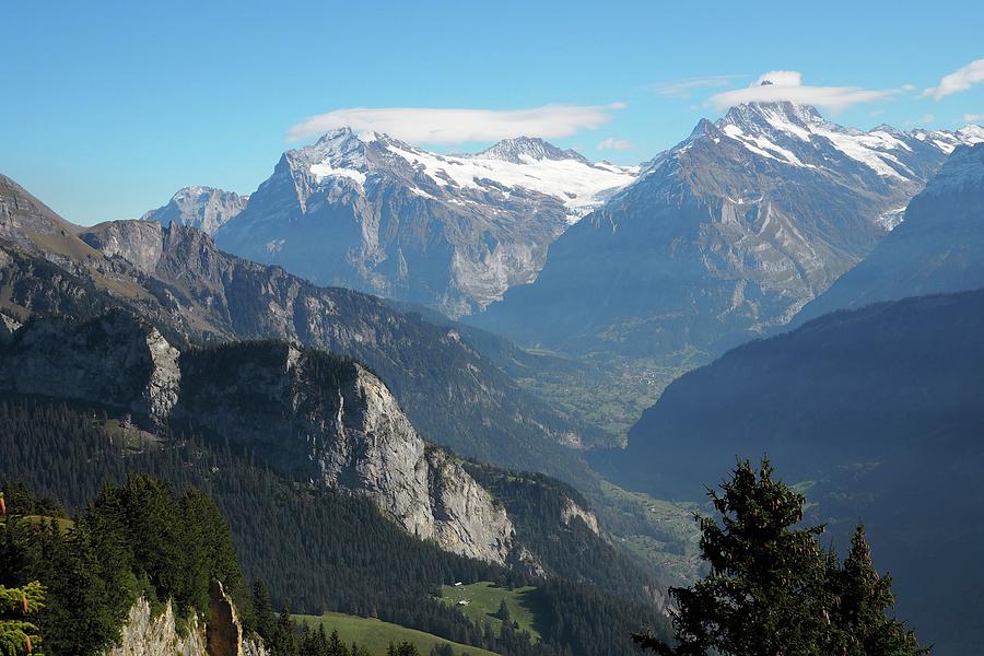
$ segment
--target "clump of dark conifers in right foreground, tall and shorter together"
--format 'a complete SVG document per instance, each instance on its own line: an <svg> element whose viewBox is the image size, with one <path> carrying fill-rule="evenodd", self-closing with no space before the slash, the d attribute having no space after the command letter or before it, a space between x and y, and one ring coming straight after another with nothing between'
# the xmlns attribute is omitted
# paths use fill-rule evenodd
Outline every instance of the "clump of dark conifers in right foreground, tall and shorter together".
<svg viewBox="0 0 984 656"><path fill-rule="evenodd" d="M912 632L886 616L891 581L879 577L859 528L842 567L824 552L823 527L798 527L806 497L762 460L739 462L721 492L708 490L719 523L695 515L710 573L671 588L677 645L634 635L660 656L913 656Z"/></svg>

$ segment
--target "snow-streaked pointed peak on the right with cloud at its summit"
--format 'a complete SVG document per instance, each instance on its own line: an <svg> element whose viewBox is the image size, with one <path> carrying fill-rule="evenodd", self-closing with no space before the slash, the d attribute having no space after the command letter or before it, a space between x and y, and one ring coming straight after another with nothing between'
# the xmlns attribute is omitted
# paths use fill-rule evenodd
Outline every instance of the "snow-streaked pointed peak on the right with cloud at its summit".
<svg viewBox="0 0 984 656"><path fill-rule="evenodd" d="M706 358L782 326L984 130L863 132L788 102L733 107L567 230L476 325L520 344Z"/></svg>

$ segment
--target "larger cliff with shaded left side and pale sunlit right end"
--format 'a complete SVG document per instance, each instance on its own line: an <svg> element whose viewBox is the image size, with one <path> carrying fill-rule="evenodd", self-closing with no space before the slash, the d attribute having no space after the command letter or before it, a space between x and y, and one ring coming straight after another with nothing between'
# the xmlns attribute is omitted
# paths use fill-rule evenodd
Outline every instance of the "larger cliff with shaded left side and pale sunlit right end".
<svg viewBox="0 0 984 656"><path fill-rule="evenodd" d="M248 445L281 470L366 496L409 534L505 563L514 528L460 461L429 446L363 365L288 344L181 359L177 417Z"/></svg>

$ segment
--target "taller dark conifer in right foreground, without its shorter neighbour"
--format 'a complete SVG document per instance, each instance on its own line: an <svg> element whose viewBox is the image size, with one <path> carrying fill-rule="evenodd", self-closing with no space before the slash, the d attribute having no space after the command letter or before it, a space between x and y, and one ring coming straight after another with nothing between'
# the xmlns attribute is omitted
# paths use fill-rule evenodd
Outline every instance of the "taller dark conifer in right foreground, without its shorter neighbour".
<svg viewBox="0 0 984 656"><path fill-rule="evenodd" d="M678 610L678 645L637 635L664 656L801 656L825 654L833 640L828 619L822 527L794 528L806 499L772 479L762 460L758 473L739 462L722 492L708 490L721 524L695 515L701 555L711 572L691 588L671 588Z"/></svg>

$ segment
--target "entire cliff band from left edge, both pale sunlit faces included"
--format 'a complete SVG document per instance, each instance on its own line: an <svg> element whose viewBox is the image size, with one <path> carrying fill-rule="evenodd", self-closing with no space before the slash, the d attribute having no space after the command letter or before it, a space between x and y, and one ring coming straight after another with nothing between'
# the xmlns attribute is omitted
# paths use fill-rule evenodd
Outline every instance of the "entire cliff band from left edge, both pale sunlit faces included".
<svg viewBox="0 0 984 656"><path fill-rule="evenodd" d="M282 342L180 354L122 311L38 319L0 348L0 389L187 422L301 480L371 499L409 534L505 563L514 528L459 460L427 445L362 364Z"/></svg>

